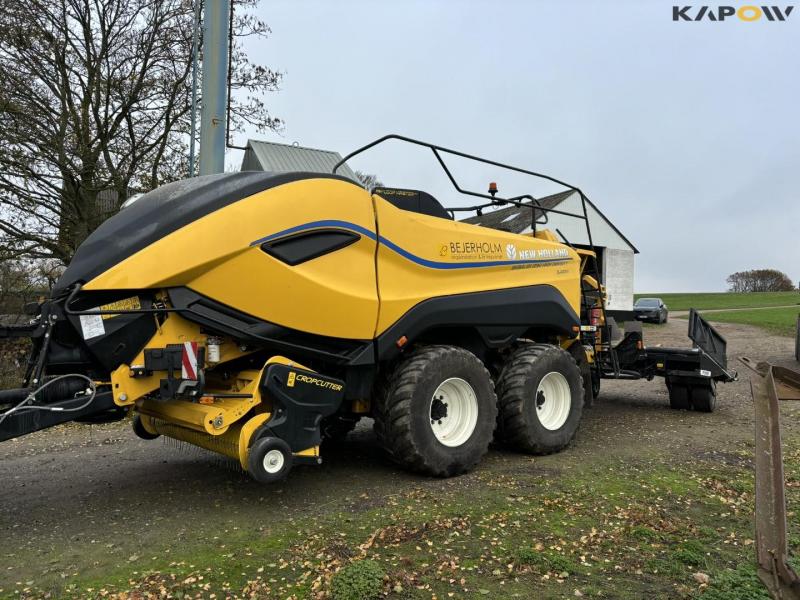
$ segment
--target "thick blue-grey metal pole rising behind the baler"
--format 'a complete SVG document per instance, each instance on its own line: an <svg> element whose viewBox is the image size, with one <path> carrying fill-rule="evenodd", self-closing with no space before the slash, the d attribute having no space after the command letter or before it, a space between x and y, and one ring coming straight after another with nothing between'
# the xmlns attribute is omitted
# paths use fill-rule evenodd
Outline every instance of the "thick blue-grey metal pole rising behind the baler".
<svg viewBox="0 0 800 600"><path fill-rule="evenodd" d="M200 175L225 170L230 0L205 0L203 96L200 113Z"/></svg>

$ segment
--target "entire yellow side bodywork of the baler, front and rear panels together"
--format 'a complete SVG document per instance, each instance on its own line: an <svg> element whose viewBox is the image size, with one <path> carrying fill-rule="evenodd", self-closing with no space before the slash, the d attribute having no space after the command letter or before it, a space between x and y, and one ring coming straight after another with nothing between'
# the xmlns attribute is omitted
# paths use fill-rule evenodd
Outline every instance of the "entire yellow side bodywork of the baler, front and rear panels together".
<svg viewBox="0 0 800 600"><path fill-rule="evenodd" d="M360 237L294 266L260 248L271 236L319 227ZM578 254L550 232L516 235L431 217L396 208L347 182L306 179L216 210L84 289L185 286L277 325L367 340L424 300L484 290L551 285L579 313L579 269ZM129 373L122 369L115 384L139 397L144 382L123 384ZM147 391L156 389L148 385Z"/></svg>

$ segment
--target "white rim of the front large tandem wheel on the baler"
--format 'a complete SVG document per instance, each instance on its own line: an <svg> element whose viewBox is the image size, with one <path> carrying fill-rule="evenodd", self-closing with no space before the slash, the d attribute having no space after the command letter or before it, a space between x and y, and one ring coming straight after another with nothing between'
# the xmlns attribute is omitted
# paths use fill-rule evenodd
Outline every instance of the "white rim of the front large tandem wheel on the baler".
<svg viewBox="0 0 800 600"><path fill-rule="evenodd" d="M478 424L478 397L463 379L445 379L431 398L428 411L431 429L436 439L455 448L465 443Z"/></svg>

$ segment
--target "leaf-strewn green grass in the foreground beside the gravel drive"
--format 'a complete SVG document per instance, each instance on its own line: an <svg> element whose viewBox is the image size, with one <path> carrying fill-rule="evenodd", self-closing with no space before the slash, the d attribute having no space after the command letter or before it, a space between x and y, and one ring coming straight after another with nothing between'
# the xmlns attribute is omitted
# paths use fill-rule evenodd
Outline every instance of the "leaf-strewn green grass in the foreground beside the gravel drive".
<svg viewBox="0 0 800 600"><path fill-rule="evenodd" d="M798 472L794 457L789 477ZM134 572L106 562L102 576L75 573L49 589L23 580L0 596L429 600L556 598L577 589L600 598L734 600L760 589L752 543L742 545L752 538L746 466L672 465L654 453L583 465L563 478L533 471L475 479L466 489L421 486L356 514L311 511L292 519L290 535L239 529L224 544L173 548L170 559L149 548L152 564ZM793 489L789 500L794 508ZM705 593L697 571L711 577Z"/></svg>

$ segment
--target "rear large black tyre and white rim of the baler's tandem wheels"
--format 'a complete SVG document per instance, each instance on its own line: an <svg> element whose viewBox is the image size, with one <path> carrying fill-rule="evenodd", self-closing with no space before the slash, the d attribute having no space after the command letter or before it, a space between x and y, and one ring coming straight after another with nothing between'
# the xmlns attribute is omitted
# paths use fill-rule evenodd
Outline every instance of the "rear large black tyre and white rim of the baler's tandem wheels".
<svg viewBox="0 0 800 600"><path fill-rule="evenodd" d="M583 381L573 357L550 344L526 344L497 382L498 438L534 454L565 448L578 431Z"/></svg>

